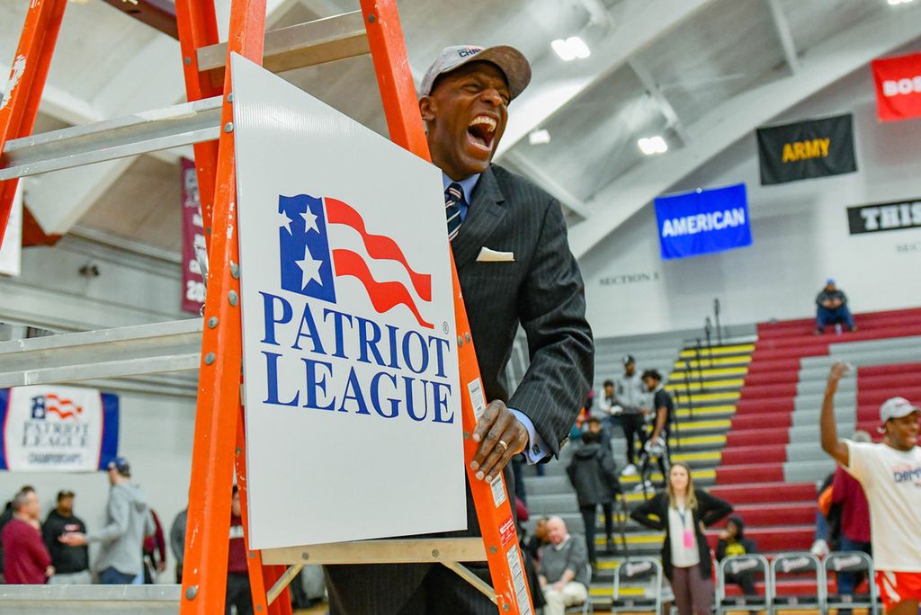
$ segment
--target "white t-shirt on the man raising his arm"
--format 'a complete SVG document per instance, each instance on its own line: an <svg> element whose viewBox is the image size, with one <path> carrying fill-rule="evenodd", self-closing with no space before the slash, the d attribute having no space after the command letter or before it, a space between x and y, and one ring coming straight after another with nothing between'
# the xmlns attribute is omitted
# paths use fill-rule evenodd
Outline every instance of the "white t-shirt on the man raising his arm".
<svg viewBox="0 0 921 615"><path fill-rule="evenodd" d="M921 573L921 447L900 451L845 440L850 467L869 502L877 570Z"/></svg>

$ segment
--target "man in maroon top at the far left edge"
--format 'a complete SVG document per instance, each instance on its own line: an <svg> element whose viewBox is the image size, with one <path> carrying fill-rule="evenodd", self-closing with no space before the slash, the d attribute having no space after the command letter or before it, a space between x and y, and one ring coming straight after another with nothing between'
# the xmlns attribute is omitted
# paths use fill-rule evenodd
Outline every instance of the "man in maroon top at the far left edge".
<svg viewBox="0 0 921 615"><path fill-rule="evenodd" d="M13 499L13 518L0 534L9 585L43 585L54 574L52 556L41 540L40 512L34 491L19 492Z"/></svg>

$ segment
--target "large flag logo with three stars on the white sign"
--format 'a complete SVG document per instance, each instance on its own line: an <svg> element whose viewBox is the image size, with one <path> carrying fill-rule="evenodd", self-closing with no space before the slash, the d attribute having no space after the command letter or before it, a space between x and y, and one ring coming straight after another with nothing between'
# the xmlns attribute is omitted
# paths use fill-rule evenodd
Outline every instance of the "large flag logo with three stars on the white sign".
<svg viewBox="0 0 921 615"><path fill-rule="evenodd" d="M361 238L360 249L334 245L328 232L332 225L352 228ZM350 205L308 194L279 196L278 242L283 289L336 303L333 279L352 276L364 286L379 314L405 306L421 326L434 328L423 319L409 287L419 299L431 302L431 274L415 271L392 238L368 232L365 219ZM407 273L409 286L399 280L376 279L370 266L375 261L397 263Z"/></svg>

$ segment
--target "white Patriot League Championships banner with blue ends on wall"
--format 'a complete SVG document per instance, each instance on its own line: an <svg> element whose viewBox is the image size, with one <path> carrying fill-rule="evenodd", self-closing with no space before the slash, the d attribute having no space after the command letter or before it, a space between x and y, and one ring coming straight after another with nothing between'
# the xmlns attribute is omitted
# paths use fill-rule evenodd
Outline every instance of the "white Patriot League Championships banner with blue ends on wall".
<svg viewBox="0 0 921 615"><path fill-rule="evenodd" d="M0 470L103 470L118 455L118 405L95 389L0 389Z"/></svg>

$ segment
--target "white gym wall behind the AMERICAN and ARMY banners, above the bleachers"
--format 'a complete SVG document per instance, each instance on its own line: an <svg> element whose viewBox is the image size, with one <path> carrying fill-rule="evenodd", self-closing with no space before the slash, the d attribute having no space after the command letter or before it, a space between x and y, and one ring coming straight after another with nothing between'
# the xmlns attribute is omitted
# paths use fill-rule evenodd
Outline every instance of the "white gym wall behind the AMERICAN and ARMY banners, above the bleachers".
<svg viewBox="0 0 921 615"><path fill-rule="evenodd" d="M856 311L921 305L921 229L848 235L846 207L921 197L921 120L880 124L875 105L866 67L776 119L853 112L857 173L761 186L752 133L670 190L744 181L750 248L662 261L651 203L615 230L580 261L596 337L702 327L714 297L724 324L811 316L829 276Z"/></svg>

